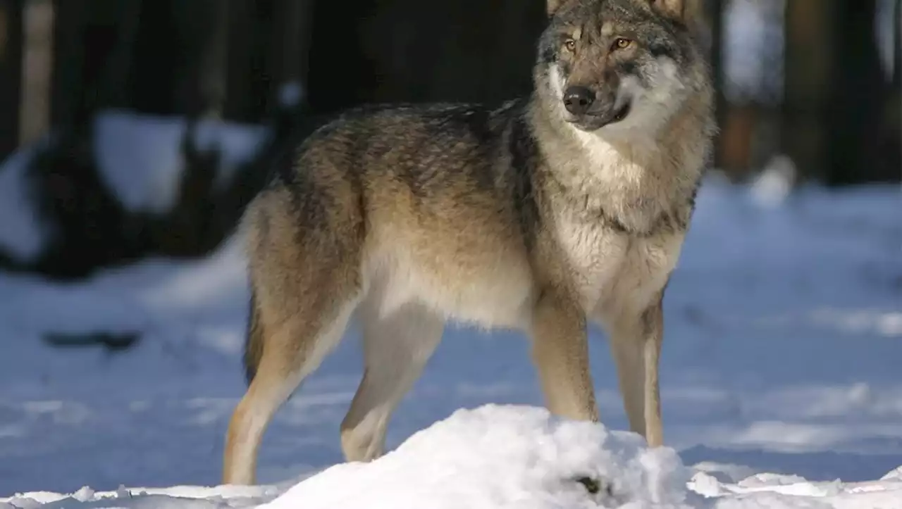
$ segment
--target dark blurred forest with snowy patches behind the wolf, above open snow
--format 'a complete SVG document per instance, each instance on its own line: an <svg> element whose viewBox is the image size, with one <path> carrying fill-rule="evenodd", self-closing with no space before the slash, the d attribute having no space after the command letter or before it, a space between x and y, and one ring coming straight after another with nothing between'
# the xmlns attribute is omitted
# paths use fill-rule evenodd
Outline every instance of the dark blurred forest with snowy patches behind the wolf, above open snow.
<svg viewBox="0 0 902 509"><path fill-rule="evenodd" d="M718 170L902 177L900 0L690 4ZM321 115L528 93L544 22L540 0L0 0L0 268L206 254Z"/></svg>

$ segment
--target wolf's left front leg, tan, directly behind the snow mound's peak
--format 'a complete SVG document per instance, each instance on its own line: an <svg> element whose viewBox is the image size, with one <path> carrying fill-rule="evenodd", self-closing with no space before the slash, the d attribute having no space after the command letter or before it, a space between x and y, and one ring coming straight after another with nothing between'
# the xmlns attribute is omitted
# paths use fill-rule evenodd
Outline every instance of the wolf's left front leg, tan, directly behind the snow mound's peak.
<svg viewBox="0 0 902 509"><path fill-rule="evenodd" d="M569 419L598 421L583 310L572 299L547 293L533 310L531 335L532 359L548 410Z"/></svg>

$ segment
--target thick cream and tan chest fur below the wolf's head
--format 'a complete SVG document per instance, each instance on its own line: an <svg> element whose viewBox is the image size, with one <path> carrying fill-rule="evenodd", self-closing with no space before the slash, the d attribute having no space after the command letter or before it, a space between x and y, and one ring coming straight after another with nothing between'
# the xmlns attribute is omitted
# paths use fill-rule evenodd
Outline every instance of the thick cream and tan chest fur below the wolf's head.
<svg viewBox="0 0 902 509"><path fill-rule="evenodd" d="M576 141L582 150L550 161L560 252L587 312L638 311L679 258L689 206L679 174L662 171L656 147L614 150L603 141Z"/></svg>

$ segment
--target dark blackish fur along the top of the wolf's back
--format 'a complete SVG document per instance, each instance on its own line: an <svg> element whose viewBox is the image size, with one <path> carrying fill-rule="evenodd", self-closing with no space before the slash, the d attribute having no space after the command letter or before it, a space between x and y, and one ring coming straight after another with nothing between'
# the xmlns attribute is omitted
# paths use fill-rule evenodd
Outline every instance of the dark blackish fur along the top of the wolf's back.
<svg viewBox="0 0 902 509"><path fill-rule="evenodd" d="M488 105L370 105L341 114L315 132L300 148L301 161L311 151L329 152L331 162L361 172L386 172L410 192L426 197L447 179L466 177L480 188L503 188L492 169L509 147L503 140L523 119L526 102ZM522 135L522 132L520 132ZM340 154L340 155L339 155ZM340 160L339 160L340 159ZM437 163L440 163L439 166ZM446 171L454 165L459 171ZM439 170L441 168L441 170ZM297 168L289 168L296 174ZM284 174L283 174L284 175Z"/></svg>

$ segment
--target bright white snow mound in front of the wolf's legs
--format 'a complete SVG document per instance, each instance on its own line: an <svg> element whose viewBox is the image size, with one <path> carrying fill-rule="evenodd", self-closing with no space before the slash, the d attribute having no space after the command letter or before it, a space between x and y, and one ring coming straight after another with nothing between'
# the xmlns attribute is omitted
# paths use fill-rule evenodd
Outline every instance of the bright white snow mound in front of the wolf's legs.
<svg viewBox="0 0 902 509"><path fill-rule="evenodd" d="M692 474L675 450L649 450L637 434L490 404L459 410L372 463L328 468L262 507L676 508L690 506Z"/></svg>

